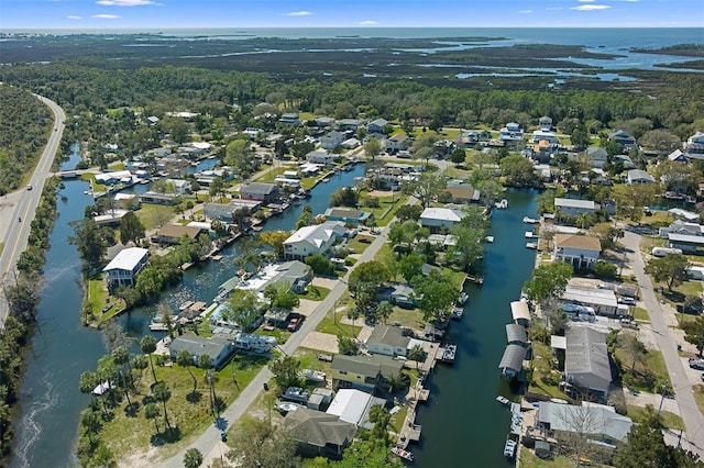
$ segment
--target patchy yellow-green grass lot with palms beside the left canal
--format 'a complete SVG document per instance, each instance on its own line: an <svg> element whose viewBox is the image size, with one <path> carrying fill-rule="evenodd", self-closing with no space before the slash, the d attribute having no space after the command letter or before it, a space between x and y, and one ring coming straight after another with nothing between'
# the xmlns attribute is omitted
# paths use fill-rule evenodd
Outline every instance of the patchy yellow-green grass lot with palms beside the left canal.
<svg viewBox="0 0 704 468"><path fill-rule="evenodd" d="M244 355L235 355L231 363L217 372L215 385L218 400L229 405L240 394L241 390L252 381L254 376L266 365L267 359ZM144 405L153 401L150 387L153 383L152 372L146 369L138 380L138 394L132 394L131 401L136 406L135 412L128 411L127 401L121 401L113 410L114 417L106 422L100 432L101 438L113 454L121 454L124 458L129 454L145 452L155 445L163 444L160 452L164 457L174 455L212 425L213 415L210 412L209 389L205 382L205 371L195 367L187 369L179 366L157 367L156 378L168 385L172 397L166 403L172 433L164 428L163 406L162 416L156 420L158 432L153 421L145 419ZM239 387L239 389L238 389Z"/></svg>

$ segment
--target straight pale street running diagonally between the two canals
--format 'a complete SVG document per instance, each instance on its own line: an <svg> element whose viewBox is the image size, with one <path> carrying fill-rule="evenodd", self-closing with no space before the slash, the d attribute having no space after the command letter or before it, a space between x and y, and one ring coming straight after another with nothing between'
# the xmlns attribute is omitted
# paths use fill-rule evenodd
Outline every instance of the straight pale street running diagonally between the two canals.
<svg viewBox="0 0 704 468"><path fill-rule="evenodd" d="M410 203L417 203L417 200L409 199ZM382 248L382 246L386 243L388 229L392 223L388 223L377 235L372 244L364 250L364 253L360 256L359 260L355 265L361 265L365 261L370 261L374 258L376 253ZM348 288L346 282L350 277L350 272L352 269L348 271L348 274L339 281L337 281L336 286L332 288L330 293L323 299L316 310L304 321L304 324L299 328L297 333L294 333L286 344L284 344L280 348L287 355L293 354L304 342L306 336L310 332L314 332L318 324L324 319L326 314L330 309L334 307L337 300L340 299L342 293ZM254 402L257 398L260 391L265 382L268 382L273 377L272 371L268 367L264 367L246 386L246 388L240 393L240 395L234 400L234 402L221 414L221 417L227 422L228 427L234 424L249 409L249 406ZM271 391L271 390L270 390ZM183 448L178 454L167 459L163 464L160 465L161 468L180 468L183 467L184 456L186 450L189 448L197 448L204 454L205 460L204 464L208 464L213 458L219 458L221 455L224 455L230 448L220 442L220 430L216 427L216 425L211 425L204 432L194 443L191 443L188 447Z"/></svg>

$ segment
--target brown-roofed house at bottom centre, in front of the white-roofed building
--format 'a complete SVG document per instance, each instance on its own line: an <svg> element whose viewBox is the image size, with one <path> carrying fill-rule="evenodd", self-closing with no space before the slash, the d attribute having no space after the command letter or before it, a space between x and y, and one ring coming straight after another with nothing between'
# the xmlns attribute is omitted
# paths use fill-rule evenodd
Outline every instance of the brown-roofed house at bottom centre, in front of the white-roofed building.
<svg viewBox="0 0 704 468"><path fill-rule="evenodd" d="M297 442L297 452L308 457L340 458L356 433L354 424L341 421L333 414L307 408L289 411L284 417L283 426Z"/></svg>

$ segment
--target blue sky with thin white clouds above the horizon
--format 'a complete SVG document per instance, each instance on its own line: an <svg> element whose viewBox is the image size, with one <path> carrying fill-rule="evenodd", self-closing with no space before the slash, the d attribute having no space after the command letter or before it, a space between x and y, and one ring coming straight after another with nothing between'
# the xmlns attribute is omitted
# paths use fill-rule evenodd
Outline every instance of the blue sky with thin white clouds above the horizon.
<svg viewBox="0 0 704 468"><path fill-rule="evenodd" d="M440 26L704 27L704 0L0 0L0 31Z"/></svg>

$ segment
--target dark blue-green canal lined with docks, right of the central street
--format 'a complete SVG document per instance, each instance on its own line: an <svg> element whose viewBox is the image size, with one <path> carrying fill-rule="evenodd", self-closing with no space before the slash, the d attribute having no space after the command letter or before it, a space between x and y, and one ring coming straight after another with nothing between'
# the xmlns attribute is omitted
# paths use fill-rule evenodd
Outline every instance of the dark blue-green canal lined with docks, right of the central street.
<svg viewBox="0 0 704 468"><path fill-rule="evenodd" d="M430 399L418 409L421 443L411 446L419 467L498 467L510 413L495 398L514 399L501 378L498 363L506 345L505 325L512 301L529 279L536 250L526 248L524 216L536 215L536 192L508 190L508 210L495 210L484 258L484 285L469 287L464 316L450 326L449 343L458 344L454 366L440 365L428 380Z"/></svg>

